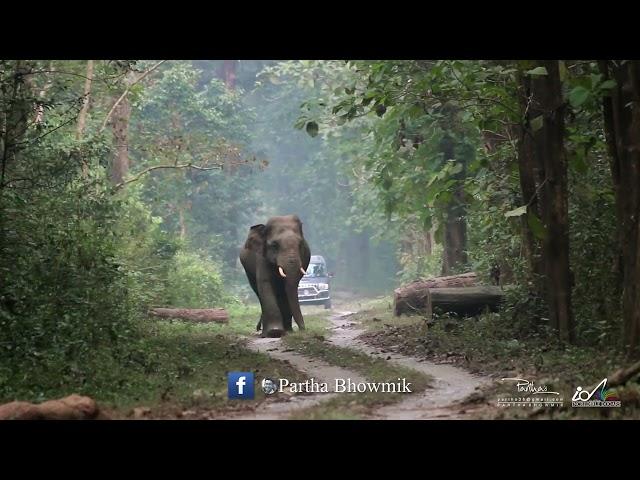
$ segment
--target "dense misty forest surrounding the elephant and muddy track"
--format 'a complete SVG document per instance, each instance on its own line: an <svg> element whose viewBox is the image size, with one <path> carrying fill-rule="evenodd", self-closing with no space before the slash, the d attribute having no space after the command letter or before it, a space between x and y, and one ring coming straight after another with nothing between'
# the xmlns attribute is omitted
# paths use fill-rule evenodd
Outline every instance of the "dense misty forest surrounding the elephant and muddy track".
<svg viewBox="0 0 640 480"><path fill-rule="evenodd" d="M451 357L566 388L536 415L637 415L639 61L0 60L0 156L0 403L227 418L228 371L302 380L247 346L260 306L238 259L251 226L295 214L333 310L368 333L329 341L335 318L305 307L289 349L416 385L434 374L350 349ZM498 312L392 314L394 289L468 272L500 289ZM571 408L605 377L623 408ZM509 416L482 391L476 416ZM293 418L395 401L363 398Z"/></svg>

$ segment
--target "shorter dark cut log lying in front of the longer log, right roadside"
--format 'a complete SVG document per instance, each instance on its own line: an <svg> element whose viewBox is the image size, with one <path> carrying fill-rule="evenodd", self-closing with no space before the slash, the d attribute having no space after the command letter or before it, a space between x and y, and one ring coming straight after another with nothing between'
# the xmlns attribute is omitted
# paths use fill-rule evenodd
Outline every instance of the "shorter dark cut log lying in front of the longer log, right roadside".
<svg viewBox="0 0 640 480"><path fill-rule="evenodd" d="M504 293L500 287L430 288L431 312L460 316L478 315L485 310L497 312ZM431 315L429 315L429 318Z"/></svg>

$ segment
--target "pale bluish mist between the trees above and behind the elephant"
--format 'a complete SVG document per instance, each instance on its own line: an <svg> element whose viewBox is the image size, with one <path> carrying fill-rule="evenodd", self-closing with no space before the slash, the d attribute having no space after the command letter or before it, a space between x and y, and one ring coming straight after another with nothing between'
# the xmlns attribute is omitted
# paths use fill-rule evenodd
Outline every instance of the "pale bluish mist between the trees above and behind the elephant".
<svg viewBox="0 0 640 480"><path fill-rule="evenodd" d="M246 232L271 216L296 214L312 255L325 258L337 288L388 289L398 270L395 245L372 240L379 232L371 228L348 224L352 192L339 163L329 158L331 145L294 127L309 91L286 79L278 84L256 81L265 67L276 64L241 61L237 67L237 77L245 79L243 102L255 115L249 151L267 163L252 177L258 208L239 230Z"/></svg>

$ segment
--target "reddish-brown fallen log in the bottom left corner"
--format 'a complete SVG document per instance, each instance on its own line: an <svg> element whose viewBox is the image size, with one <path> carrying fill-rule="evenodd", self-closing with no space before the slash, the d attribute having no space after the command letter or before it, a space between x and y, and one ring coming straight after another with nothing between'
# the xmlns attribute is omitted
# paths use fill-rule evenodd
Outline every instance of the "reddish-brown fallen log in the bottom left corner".
<svg viewBox="0 0 640 480"><path fill-rule="evenodd" d="M95 420L106 419L90 397L69 395L35 404L11 402L0 405L0 420Z"/></svg>

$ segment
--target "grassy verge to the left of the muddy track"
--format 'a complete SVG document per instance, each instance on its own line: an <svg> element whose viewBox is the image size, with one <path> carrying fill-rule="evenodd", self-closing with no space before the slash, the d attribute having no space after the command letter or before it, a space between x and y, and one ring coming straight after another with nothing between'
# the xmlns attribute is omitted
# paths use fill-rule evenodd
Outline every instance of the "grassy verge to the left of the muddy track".
<svg viewBox="0 0 640 480"><path fill-rule="evenodd" d="M145 319L141 338L126 351L95 351L81 369L60 365L24 370L28 381L23 383L29 388L7 392L0 403L40 402L78 393L95 398L114 418L127 417L134 407L150 408L153 418L175 418L184 410L250 408L264 399L262 390L255 389L253 401L229 401L229 371L306 380L287 363L244 346L238 334L254 332L255 313L253 309L236 311L227 325Z"/></svg>

